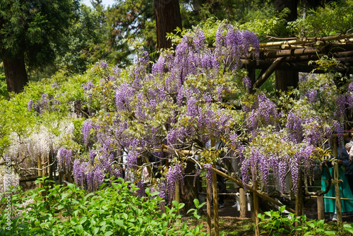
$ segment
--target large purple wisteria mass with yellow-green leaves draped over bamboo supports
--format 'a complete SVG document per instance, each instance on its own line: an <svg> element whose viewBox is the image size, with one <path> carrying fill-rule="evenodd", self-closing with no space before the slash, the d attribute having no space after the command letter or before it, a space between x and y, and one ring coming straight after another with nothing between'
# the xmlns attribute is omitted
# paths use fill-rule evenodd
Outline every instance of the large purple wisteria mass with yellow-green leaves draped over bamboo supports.
<svg viewBox="0 0 353 236"><path fill-rule="evenodd" d="M294 150L300 153L303 142L310 147L318 143L318 137L325 133L320 130L320 136L315 136L318 133L316 124L320 124L320 119L302 117L296 111L288 117L282 116L280 108L264 94L253 95L257 99L256 102L246 103L248 110L246 107L238 111L229 108L234 107L229 98L235 93L233 72L239 66L239 59L250 55L250 47L255 48L254 55L258 55L256 35L237 30L232 25L220 24L215 49L209 49L205 41L205 33L201 29L186 34L177 45L175 54L160 54L151 71L148 54L138 52L136 64L126 79L109 74L109 66L99 65L107 72L105 76L109 78L109 83L114 84L115 106L106 114L101 113L94 124L84 123L85 145L90 141L90 147L95 148L95 155L89 153L88 160L85 160L91 167L86 167L86 182L90 191L97 189L97 182L104 178L103 174L109 174L109 177L121 175L121 169L112 155L116 151L126 151L125 176L138 183L139 179L130 176L132 172L128 169L132 170L137 165L138 156L143 151L167 144L169 153L165 157L172 159L175 149L192 145L202 149L212 136L229 138L232 151L241 160L244 184L259 181L261 187L267 190L269 176L273 175L284 189L289 170L292 172L290 176L298 179L301 167L309 165L312 158L308 157L312 154L294 155ZM110 79L111 76L114 79ZM251 88L247 77L239 84L242 84L241 91ZM87 84L86 87L87 91L93 92L100 85ZM317 102L316 97L318 95L309 96L309 101ZM282 130L281 125L286 125L286 122L287 129ZM90 140L89 130L93 125L97 138ZM250 131L246 140L243 140L244 135L240 138L234 132L234 127L239 126L239 132ZM281 138L265 136L263 133L268 131L268 127L273 134L278 132ZM270 145L271 141L275 144ZM211 183L212 165L205 163L204 167ZM169 197L174 196L176 180L179 184L183 183L182 171L181 165L175 165L167 172ZM294 191L297 191L295 188Z"/></svg>

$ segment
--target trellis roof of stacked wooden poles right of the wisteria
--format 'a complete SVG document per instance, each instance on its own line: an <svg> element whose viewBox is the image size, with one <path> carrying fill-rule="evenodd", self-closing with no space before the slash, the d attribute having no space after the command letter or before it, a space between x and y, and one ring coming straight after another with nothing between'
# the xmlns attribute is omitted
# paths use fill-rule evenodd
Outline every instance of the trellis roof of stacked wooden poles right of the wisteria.
<svg viewBox="0 0 353 236"><path fill-rule="evenodd" d="M353 33L328 37L273 38L273 42L260 44L260 56L255 59L254 51L250 57L241 59L241 68L262 69L254 88L259 88L275 71L300 71L325 73L317 64L309 64L327 55L340 64L332 68L344 75L353 74Z"/></svg>

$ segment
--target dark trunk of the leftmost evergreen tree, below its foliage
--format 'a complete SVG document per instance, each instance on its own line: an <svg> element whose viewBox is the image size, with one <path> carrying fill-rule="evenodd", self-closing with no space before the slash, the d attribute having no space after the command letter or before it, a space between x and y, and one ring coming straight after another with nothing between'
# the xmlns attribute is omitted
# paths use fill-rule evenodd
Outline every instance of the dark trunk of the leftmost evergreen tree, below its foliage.
<svg viewBox="0 0 353 236"><path fill-rule="evenodd" d="M13 58L3 57L8 93L20 93L28 83L27 71L25 70L25 58L18 54Z"/></svg>

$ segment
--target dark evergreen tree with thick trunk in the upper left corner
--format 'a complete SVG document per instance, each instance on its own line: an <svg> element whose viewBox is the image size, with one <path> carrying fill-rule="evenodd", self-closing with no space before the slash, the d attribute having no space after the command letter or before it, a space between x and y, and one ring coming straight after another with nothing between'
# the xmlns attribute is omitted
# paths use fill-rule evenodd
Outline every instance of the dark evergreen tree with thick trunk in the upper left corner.
<svg viewBox="0 0 353 236"><path fill-rule="evenodd" d="M52 63L78 0L0 0L0 56L8 92L28 83L26 68Z"/></svg>

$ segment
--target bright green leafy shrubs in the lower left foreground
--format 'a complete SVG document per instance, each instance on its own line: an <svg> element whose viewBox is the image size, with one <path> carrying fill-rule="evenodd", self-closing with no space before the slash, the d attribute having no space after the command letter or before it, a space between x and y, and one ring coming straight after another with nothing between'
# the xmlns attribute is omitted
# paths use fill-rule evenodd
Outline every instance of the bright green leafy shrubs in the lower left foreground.
<svg viewBox="0 0 353 236"><path fill-rule="evenodd" d="M189 228L181 223L177 211L184 203L173 201L172 208L165 206L163 211L157 191L146 189L147 196L140 198L138 188L121 178L112 183L106 179L95 194L75 184L55 185L46 177L38 182L45 187L25 194L19 188L11 196L11 225L0 229L1 235L207 235L200 232L203 225ZM1 225L8 213L1 210Z"/></svg>

